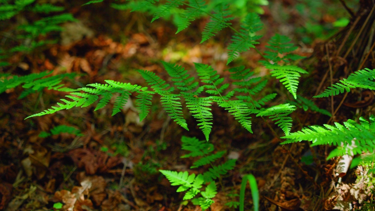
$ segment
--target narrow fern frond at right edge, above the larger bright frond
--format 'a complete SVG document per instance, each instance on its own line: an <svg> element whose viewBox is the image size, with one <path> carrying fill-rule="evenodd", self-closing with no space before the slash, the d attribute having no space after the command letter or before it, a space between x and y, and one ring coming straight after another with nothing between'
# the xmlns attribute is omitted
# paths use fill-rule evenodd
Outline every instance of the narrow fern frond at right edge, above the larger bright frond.
<svg viewBox="0 0 375 211"><path fill-rule="evenodd" d="M371 89L375 90L375 69L371 70L365 68L363 70L359 70L353 72L349 75L347 79L340 80L339 82L332 84L332 86L327 87L324 92L320 93L314 98L321 98L321 97L328 97L328 96L335 96L339 93L349 92L351 88L364 88L364 89Z"/></svg>

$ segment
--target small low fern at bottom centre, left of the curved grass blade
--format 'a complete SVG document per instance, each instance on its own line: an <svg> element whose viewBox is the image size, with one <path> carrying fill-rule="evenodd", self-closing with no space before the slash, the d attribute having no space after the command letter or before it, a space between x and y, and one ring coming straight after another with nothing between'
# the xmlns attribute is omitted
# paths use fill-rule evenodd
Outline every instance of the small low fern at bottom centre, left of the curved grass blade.
<svg viewBox="0 0 375 211"><path fill-rule="evenodd" d="M190 151L190 153L181 156L181 158L188 157L201 157L199 160L195 161L191 168L196 168L210 164L211 168L203 174L198 174L195 176L194 173L190 174L188 172L176 172L169 170L159 170L168 180L171 185L180 185L177 188L177 192L187 191L183 197L183 200L192 199L194 205L201 206L202 210L205 210L214 203L213 197L217 194L217 187L214 179L228 173L229 170L234 168L236 160L228 160L224 164L219 166L214 166L214 161L222 158L226 153L225 151L220 151L215 154L213 152L214 147L211 143L206 141L200 141L195 137L181 137L182 146L181 149ZM203 185L209 182L205 186L204 191L202 190ZM200 197L196 197L198 193L201 194Z"/></svg>

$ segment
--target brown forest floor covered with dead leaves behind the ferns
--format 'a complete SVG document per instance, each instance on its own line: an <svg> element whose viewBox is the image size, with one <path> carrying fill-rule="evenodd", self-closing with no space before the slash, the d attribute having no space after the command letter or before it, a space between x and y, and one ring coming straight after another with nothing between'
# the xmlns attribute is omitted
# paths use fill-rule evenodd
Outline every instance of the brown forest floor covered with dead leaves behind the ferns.
<svg viewBox="0 0 375 211"><path fill-rule="evenodd" d="M294 0L270 1L270 6L263 7L264 38L258 46L264 48L276 32L291 36L293 41L311 39L308 44L296 42L300 46L297 54L309 57L303 62L309 64L309 72L313 72L309 78L303 78L299 90L311 98L323 78L323 74L319 74L322 70L316 68L319 62L316 49L328 35L320 34L317 38L317 35L299 33L300 26L305 24L303 21L311 17L297 12L296 4ZM12 61L19 63L13 74L46 69L53 70L53 74L78 73L74 81L66 83L68 87L103 83L104 80L145 85L137 69L155 72L169 80L159 62L163 60L183 64L186 69L192 69L195 62L210 64L229 80L223 43L228 43L230 32L223 31L216 38L199 44L198 32L202 31L207 18L193 22L190 26L193 29L174 35L176 28L170 21L150 24L150 17L139 13L110 7L103 9L95 4L85 8L72 6L68 11L80 22L65 25L66 32L61 34L59 44L49 45L33 55L13 55ZM321 11L320 17L317 23L323 26L338 18L329 11ZM255 51L249 51L242 54L235 65L255 69L258 75L269 74L258 65L260 59ZM269 81L270 89L275 88L274 82ZM66 93L44 90L19 100L21 90L11 89L0 95L0 210L200 210L199 206L183 202L183 194L176 193L176 188L158 172L159 169L189 170L193 160L180 158L186 154L181 150L181 136L204 140L199 128L193 128L196 122L192 118L188 120L190 131L183 130L167 117L159 100L154 98L151 114L142 122L138 121L132 101L115 116L111 116L112 102L95 112L94 107L89 106L24 120L48 109ZM330 104L324 100L315 103L330 110ZM339 117L335 121L351 118L353 111L355 109L342 109L343 114L336 115ZM271 121L267 124L254 121L251 134L216 105L213 105L213 115L210 142L217 150L226 150L228 158L238 160L235 169L222 179L223 186L213 198L211 211L236 210L225 206L233 200L227 194L239 193L242 176L248 173L257 178L261 210L331 210L337 203L347 206L348 202L359 207L354 199L345 198L349 185L356 182L355 169L337 183L339 177L334 172L337 160L324 159L327 147L315 148L313 153L319 156L308 165L301 161L306 153L311 153L308 143L279 145L281 141L267 126L273 125ZM329 121L329 116L303 109L299 109L296 116L303 125ZM48 132L58 125L75 127L80 133L39 136L42 131ZM63 208L54 208L57 202L63 202ZM249 191L245 202L247 210L251 209Z"/></svg>

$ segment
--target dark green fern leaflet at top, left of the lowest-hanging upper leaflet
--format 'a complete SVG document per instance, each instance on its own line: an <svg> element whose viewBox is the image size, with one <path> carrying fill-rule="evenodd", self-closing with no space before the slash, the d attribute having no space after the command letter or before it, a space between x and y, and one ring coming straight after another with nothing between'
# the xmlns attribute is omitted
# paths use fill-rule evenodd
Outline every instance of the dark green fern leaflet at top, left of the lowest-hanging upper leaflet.
<svg viewBox="0 0 375 211"><path fill-rule="evenodd" d="M210 22L208 22L203 29L201 43L215 36L222 29L230 26L231 23L229 23L229 21L233 20L233 17L230 15L231 11L229 11L227 4L221 3L217 5L216 8L214 8L214 14L212 14Z"/></svg>

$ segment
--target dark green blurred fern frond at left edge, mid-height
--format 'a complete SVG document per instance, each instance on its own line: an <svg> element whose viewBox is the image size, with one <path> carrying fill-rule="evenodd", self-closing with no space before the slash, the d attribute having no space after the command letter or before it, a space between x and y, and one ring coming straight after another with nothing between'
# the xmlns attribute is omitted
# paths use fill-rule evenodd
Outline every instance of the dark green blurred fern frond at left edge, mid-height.
<svg viewBox="0 0 375 211"><path fill-rule="evenodd" d="M13 75L12 78L9 79L1 79L0 78L0 93L5 92L7 89L15 88L23 84L23 88L25 90L21 93L18 99L25 98L27 95L34 93L36 91L41 91L44 88L57 90L60 92L74 92L75 89L71 89L68 87L63 87L62 81L64 78L74 79L76 76L75 73L67 73L67 74L60 74L60 75L51 75L52 72L44 71L40 73L32 73L25 76L17 76Z"/></svg>

